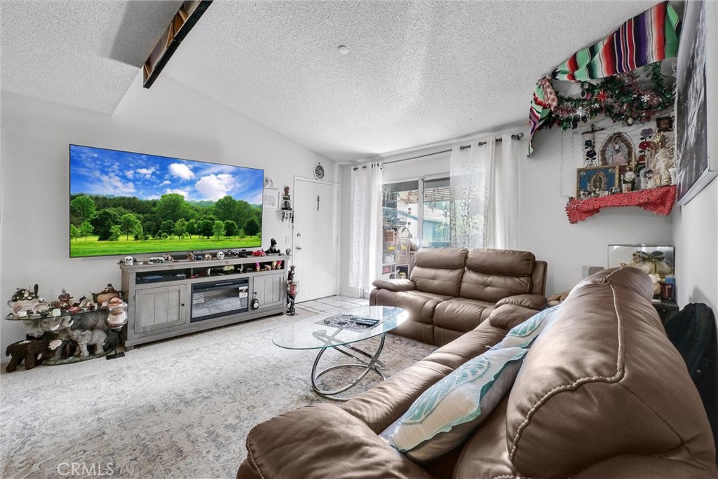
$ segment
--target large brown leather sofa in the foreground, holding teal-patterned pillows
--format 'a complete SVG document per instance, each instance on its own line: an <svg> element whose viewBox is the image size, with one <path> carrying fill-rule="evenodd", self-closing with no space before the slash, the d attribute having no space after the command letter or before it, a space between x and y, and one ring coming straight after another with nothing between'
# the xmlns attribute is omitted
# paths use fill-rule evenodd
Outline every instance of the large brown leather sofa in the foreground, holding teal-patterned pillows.
<svg viewBox="0 0 718 479"><path fill-rule="evenodd" d="M378 434L513 324L484 321L344 404L314 404L254 427L237 477L716 478L706 412L652 295L650 278L634 268L577 285L513 389L462 445L430 463L413 463Z"/></svg>

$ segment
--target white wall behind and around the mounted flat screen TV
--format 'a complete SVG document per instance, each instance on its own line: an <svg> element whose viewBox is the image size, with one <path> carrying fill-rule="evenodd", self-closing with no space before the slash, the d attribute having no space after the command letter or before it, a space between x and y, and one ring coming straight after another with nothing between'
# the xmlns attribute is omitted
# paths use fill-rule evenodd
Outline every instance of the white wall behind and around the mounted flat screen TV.
<svg viewBox="0 0 718 479"><path fill-rule="evenodd" d="M161 77L146 90L139 80L112 116L3 94L3 301L34 283L47 298L62 288L78 298L107 283L119 287L118 257L68 257L69 143L261 168L279 189L292 186L294 176L312 176L317 161L327 180L338 179L332 161L178 82ZM265 211L265 249L271 237L281 249L291 246L291 235L289 222ZM22 322L0 324L3 348L24 338Z"/></svg>

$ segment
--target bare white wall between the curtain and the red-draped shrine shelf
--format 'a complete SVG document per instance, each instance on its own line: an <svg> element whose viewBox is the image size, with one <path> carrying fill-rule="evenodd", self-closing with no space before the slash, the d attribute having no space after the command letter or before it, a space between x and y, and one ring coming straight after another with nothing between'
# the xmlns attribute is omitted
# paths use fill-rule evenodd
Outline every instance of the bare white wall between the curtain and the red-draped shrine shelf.
<svg viewBox="0 0 718 479"><path fill-rule="evenodd" d="M606 267L608 245L673 244L671 217L638 207L605 208L570 224L568 197L559 187L560 129L538 131L533 146L531 157L521 161L518 245L549 262L546 295L571 289L582 279L583 266Z"/></svg>

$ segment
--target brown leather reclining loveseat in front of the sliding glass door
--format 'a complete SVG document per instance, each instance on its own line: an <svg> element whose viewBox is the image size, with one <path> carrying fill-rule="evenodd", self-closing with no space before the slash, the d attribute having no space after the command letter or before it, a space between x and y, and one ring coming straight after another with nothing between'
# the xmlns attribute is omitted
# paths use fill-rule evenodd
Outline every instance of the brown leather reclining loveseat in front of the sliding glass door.
<svg viewBox="0 0 718 479"><path fill-rule="evenodd" d="M424 248L408 280L376 280L370 305L409 311L393 333L444 346L491 315L523 321L546 306L546 262L514 250Z"/></svg>

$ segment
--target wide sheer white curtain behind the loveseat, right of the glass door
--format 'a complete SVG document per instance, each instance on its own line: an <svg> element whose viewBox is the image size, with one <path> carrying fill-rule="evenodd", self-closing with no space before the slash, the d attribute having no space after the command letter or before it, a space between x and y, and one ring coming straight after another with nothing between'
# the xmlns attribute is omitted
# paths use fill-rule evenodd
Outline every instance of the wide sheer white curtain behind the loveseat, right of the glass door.
<svg viewBox="0 0 718 479"><path fill-rule="evenodd" d="M519 145L508 133L452 148L452 246L518 248Z"/></svg>

